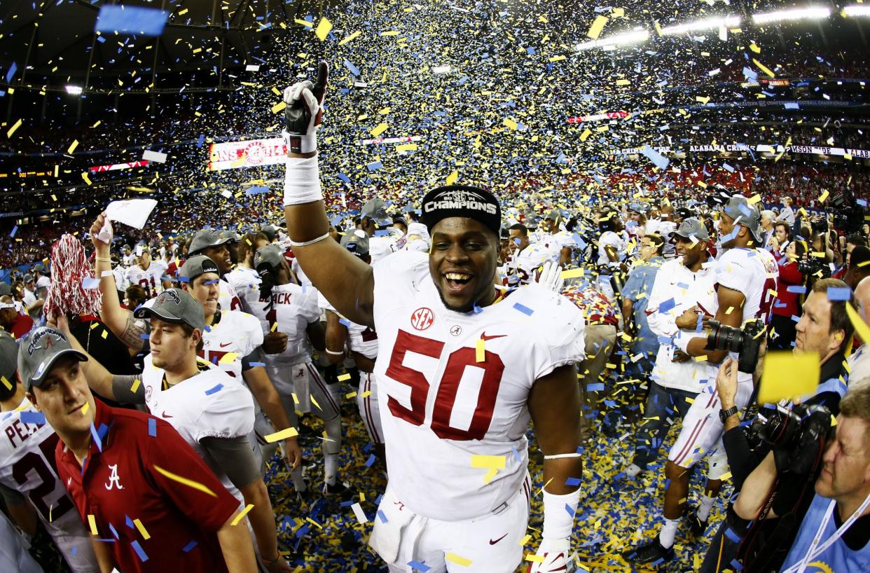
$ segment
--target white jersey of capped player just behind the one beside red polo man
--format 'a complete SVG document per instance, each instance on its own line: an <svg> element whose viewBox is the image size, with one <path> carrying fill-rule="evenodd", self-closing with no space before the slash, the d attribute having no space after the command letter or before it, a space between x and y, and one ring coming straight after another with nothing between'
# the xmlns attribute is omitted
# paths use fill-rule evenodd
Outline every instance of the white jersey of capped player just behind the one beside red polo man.
<svg viewBox="0 0 870 573"><path fill-rule="evenodd" d="M242 382L242 358L262 344L263 330L257 318L230 310L221 312L220 321L203 333L203 350L198 355Z"/></svg>

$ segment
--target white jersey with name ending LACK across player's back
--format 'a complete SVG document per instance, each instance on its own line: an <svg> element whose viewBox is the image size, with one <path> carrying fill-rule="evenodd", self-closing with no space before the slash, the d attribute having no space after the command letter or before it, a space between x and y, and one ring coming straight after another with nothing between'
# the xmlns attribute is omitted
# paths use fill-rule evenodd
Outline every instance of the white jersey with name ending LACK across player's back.
<svg viewBox="0 0 870 573"><path fill-rule="evenodd" d="M281 354L265 355L267 363L311 361L311 342L305 329L320 320L317 289L294 283L275 285L271 296L261 296L251 304L251 314L258 317L264 333L287 335L287 348Z"/></svg>

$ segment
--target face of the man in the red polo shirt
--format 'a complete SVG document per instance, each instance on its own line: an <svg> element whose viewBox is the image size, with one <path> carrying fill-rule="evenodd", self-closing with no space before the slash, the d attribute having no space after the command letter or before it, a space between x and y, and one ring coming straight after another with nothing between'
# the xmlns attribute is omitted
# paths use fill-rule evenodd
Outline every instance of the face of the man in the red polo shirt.
<svg viewBox="0 0 870 573"><path fill-rule="evenodd" d="M90 424L96 411L94 396L75 357L58 358L42 385L31 389L28 397L45 414L45 420L59 436L90 433ZM83 413L84 404L90 405Z"/></svg>

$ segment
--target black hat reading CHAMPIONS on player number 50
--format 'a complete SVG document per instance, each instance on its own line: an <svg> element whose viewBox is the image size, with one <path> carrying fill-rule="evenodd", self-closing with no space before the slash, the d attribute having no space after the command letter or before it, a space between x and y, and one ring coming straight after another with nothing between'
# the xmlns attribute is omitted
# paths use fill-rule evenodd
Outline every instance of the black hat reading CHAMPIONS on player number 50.
<svg viewBox="0 0 870 573"><path fill-rule="evenodd" d="M471 185L447 185L426 193L422 206L422 221L430 233L441 219L467 217L485 224L499 236L501 207L490 191Z"/></svg>

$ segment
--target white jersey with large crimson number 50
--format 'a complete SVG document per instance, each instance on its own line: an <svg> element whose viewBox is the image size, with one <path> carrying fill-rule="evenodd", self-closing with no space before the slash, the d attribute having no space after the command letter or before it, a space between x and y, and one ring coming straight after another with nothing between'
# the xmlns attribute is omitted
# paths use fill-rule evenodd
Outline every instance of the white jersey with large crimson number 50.
<svg viewBox="0 0 870 573"><path fill-rule="evenodd" d="M586 357L583 313L537 284L478 313L448 310L428 255L417 251L394 253L373 269L390 486L421 516L485 516L522 487L532 384ZM505 467L487 476L472 467L475 456L504 458Z"/></svg>

